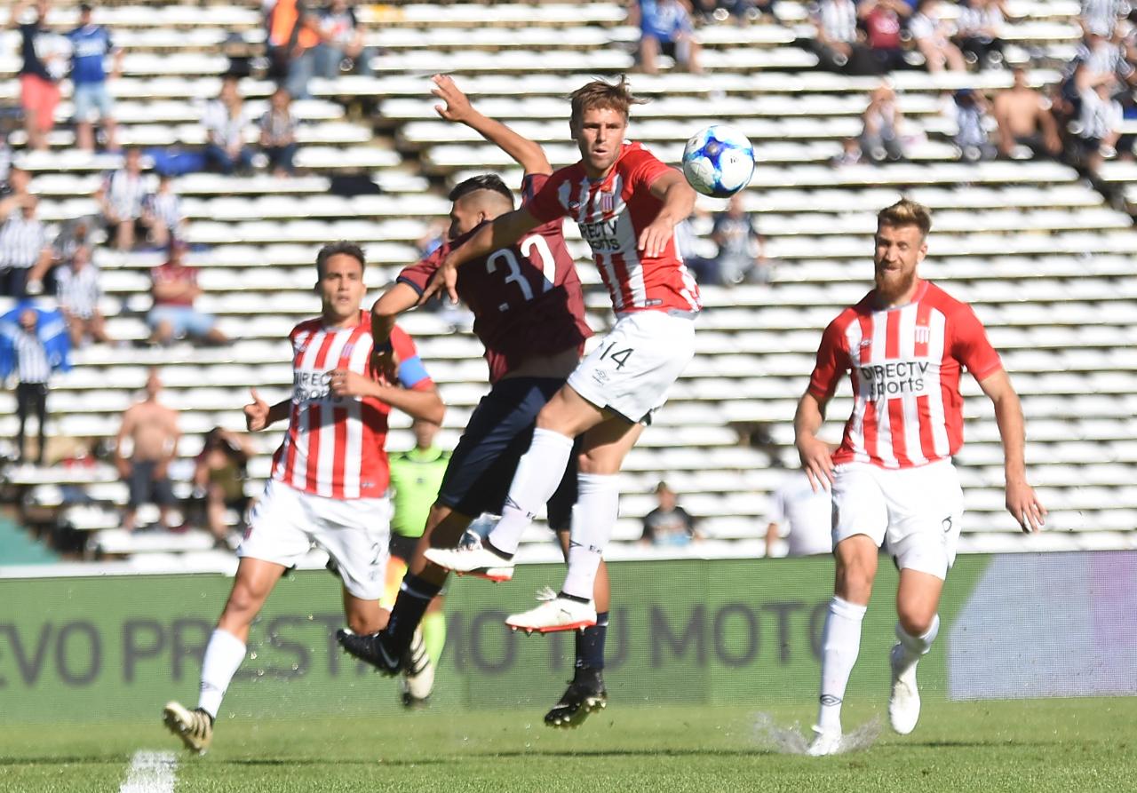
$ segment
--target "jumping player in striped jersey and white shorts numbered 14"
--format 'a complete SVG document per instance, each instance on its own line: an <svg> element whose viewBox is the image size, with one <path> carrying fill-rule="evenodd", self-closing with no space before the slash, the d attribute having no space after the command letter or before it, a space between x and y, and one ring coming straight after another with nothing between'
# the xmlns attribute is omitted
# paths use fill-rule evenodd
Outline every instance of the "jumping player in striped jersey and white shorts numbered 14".
<svg viewBox="0 0 1137 793"><path fill-rule="evenodd" d="M565 631L596 621L592 583L616 523L617 474L652 412L695 354L698 287L675 248L675 225L690 215L695 191L682 175L624 140L631 105L626 83L595 81L572 94L570 128L581 160L562 168L521 209L482 226L442 261L424 298L455 283L470 262L512 245L540 224L576 222L608 287L616 324L568 376L537 418L501 520L480 546L431 549L434 564L457 570L507 568L540 504L556 490L583 434L578 458L568 574L561 592L506 624Z"/></svg>

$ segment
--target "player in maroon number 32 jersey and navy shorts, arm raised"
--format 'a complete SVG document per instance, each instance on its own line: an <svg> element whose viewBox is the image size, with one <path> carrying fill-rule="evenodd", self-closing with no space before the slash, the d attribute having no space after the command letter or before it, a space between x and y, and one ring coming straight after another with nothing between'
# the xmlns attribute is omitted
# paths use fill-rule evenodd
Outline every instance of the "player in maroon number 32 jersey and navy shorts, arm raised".
<svg viewBox="0 0 1137 793"><path fill-rule="evenodd" d="M466 124L513 157L525 172L524 200L532 199L553 170L540 145L475 110L449 77L435 76L434 83L434 95L446 103L435 106L439 115ZM492 175L466 180L454 189L450 200L450 241L402 270L395 286L372 309L379 350L387 344L396 316L420 302L450 250L482 224L513 210L513 193ZM517 460L529 448L538 412L564 385L580 361L584 340L591 335L584 322L580 278L565 248L559 218L463 268L457 293L474 314L474 333L485 347L492 389L470 417L454 451L387 628L370 636L348 632L340 635L348 652L387 673L398 669L398 659L406 652L428 603L447 577L447 570L426 561L423 553L432 546L456 544L480 514L500 514ZM576 475L571 468L548 502L549 525L556 529L565 553L575 499ZM512 568L488 568L475 574L505 581L512 576ZM604 569L596 579L594 596L597 621L576 634L575 674L561 702L545 717L550 726L574 726L605 704L600 670L608 579Z"/></svg>

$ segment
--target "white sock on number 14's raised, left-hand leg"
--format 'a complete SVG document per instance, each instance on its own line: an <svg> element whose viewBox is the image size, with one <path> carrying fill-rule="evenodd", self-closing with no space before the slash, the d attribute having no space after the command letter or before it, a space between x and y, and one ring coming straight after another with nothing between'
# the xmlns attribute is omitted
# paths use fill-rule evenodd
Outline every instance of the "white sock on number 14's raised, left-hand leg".
<svg viewBox="0 0 1137 793"><path fill-rule="evenodd" d="M533 431L533 440L521 460L509 485L509 496L501 508L501 519L490 532L489 541L503 553L516 553L521 535L533 523L545 502L553 498L564 478L572 439L551 429Z"/></svg>

